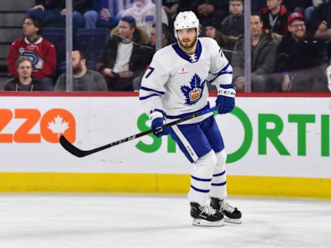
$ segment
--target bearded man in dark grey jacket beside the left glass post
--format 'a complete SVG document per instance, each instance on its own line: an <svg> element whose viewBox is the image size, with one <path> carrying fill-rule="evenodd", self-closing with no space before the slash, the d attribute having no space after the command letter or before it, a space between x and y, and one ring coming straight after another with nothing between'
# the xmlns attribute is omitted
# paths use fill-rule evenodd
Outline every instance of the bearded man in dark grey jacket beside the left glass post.
<svg viewBox="0 0 331 248"><path fill-rule="evenodd" d="M72 52L73 91L107 91L107 83L99 72L86 68L86 55L81 51ZM57 79L54 91L66 91L66 73Z"/></svg>

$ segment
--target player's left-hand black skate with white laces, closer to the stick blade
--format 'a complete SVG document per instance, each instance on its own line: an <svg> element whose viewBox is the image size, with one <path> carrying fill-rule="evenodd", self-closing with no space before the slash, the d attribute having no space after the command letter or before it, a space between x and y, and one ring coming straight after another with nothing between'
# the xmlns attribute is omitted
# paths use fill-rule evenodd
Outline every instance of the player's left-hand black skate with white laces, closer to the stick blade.
<svg viewBox="0 0 331 248"><path fill-rule="evenodd" d="M220 211L210 206L200 206L198 203L190 203L190 205L192 225L205 227L222 227L224 225L223 214Z"/></svg>

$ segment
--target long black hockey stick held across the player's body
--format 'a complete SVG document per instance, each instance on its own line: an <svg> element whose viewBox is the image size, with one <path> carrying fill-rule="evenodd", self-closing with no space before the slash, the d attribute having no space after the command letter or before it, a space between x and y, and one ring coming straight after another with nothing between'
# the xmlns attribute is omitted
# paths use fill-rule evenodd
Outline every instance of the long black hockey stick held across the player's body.
<svg viewBox="0 0 331 248"><path fill-rule="evenodd" d="M190 116L186 116L186 117L183 117L183 118L180 118L179 120L177 121L172 121L171 123L167 123L165 124L165 127L171 127L172 125L177 125L179 123L182 123L184 121L188 121L188 120L191 120L192 118L197 118L199 116L202 116L203 114L207 114L207 113L210 113L210 112L213 112L214 110L218 110L219 107L218 106L215 106L215 107L212 107L208 110L202 110L200 112L197 112L195 114L191 114ZM110 148L110 147L113 147L115 145L119 145L121 143L125 143L127 141L132 141L134 140L135 138L139 138L141 136L145 136L146 134L150 134L154 132L154 130L147 130L145 132L141 132L140 134L134 134L130 137L127 137L127 138L122 138L121 140L119 141L114 141L113 143L110 143L108 145L103 145L101 147L97 147L95 149L91 149L91 150L88 150L88 151L83 151L77 147L75 147L74 145L72 145L72 143L70 143L65 136L61 135L60 137L60 144L62 145L62 147L64 149L66 149L68 152L70 152L72 155L74 156L77 156L79 158L83 157L83 156L88 156L90 154L94 154L95 152L100 152L102 151L103 149L107 149L107 148Z"/></svg>

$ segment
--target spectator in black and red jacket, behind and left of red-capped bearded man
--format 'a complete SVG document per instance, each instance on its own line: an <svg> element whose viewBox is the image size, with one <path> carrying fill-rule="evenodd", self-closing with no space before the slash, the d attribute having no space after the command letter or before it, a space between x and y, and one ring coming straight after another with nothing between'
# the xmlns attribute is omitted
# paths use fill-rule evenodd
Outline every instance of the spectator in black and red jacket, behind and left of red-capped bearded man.
<svg viewBox="0 0 331 248"><path fill-rule="evenodd" d="M281 41L281 37L288 32L288 15L290 12L281 5L281 0L267 0L268 8L261 9L263 30Z"/></svg>

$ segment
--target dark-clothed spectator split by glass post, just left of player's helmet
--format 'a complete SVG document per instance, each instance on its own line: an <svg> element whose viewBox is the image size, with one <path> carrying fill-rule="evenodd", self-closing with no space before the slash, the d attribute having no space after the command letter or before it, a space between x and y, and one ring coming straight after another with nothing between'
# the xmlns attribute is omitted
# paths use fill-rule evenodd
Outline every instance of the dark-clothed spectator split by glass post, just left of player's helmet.
<svg viewBox="0 0 331 248"><path fill-rule="evenodd" d="M164 48L166 45L170 45L172 43L172 35L170 34L168 25L165 25L165 23L162 23L162 34L161 34L161 42L162 42L162 48ZM148 43L147 45L144 45L143 48L143 59L142 63L144 68L147 68L148 65L150 65L150 62L152 61L152 57L155 53L155 47L157 45L157 29L155 23L152 25L152 28L150 29L150 34L148 35ZM141 85L141 77L143 76L143 72L141 75L137 76L133 82L133 90L139 91L140 85Z"/></svg>

